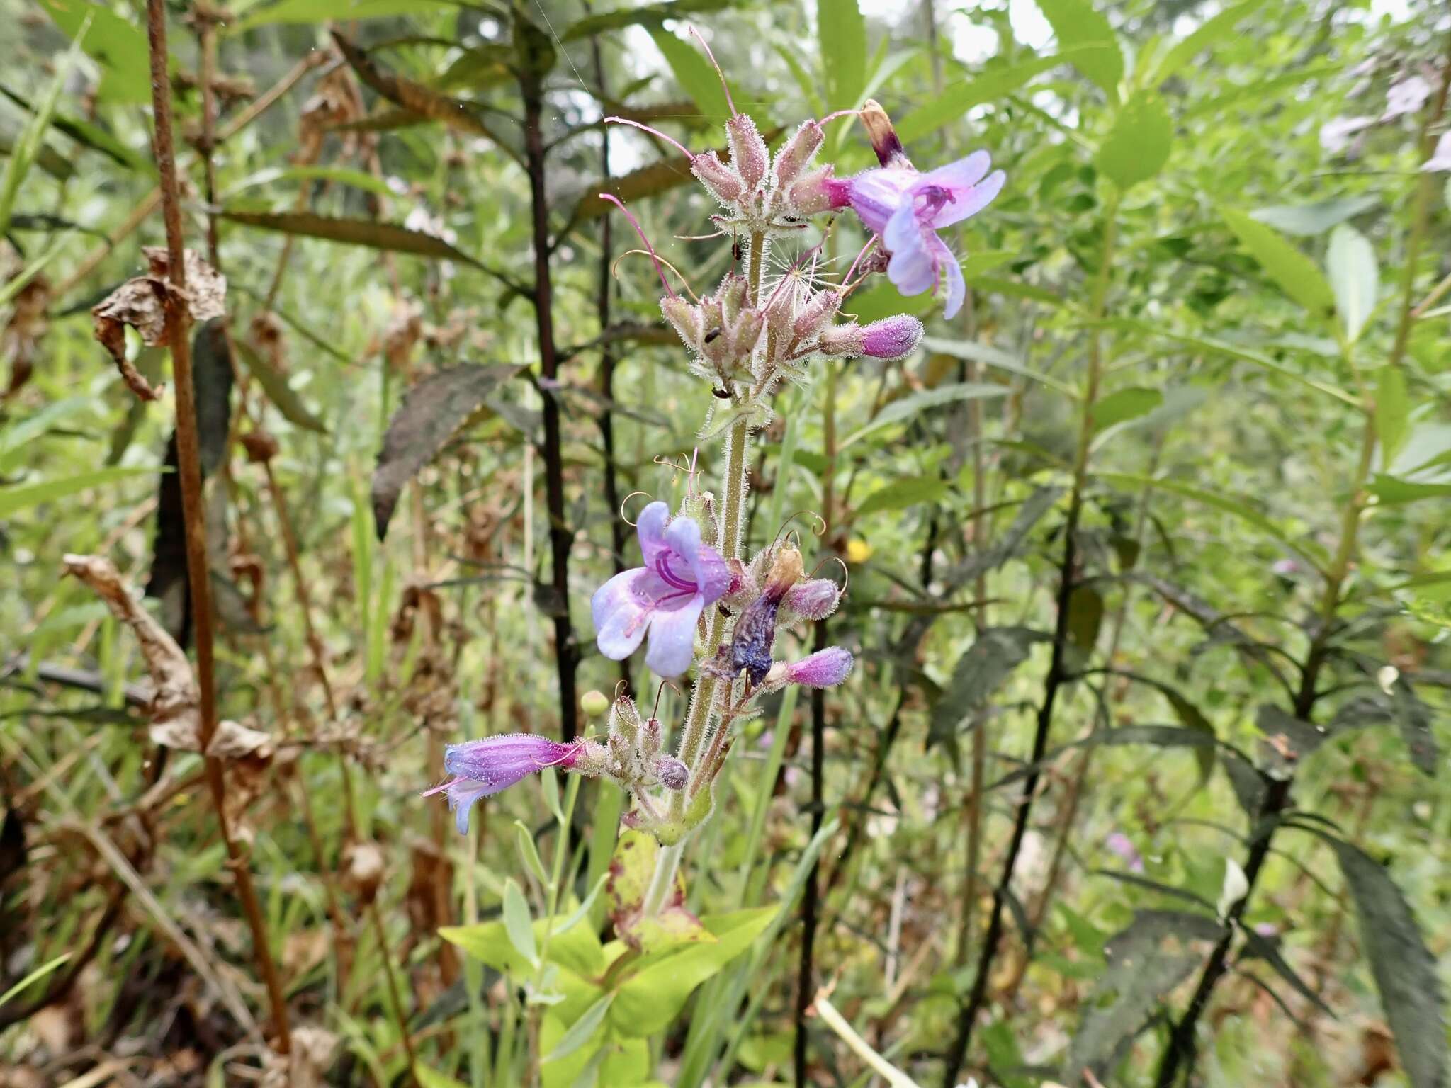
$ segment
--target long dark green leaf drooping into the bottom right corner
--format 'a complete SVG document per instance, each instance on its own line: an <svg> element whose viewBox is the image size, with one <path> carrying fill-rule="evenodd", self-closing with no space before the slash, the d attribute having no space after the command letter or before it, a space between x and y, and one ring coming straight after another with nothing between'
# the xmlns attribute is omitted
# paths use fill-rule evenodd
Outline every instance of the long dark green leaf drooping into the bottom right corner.
<svg viewBox="0 0 1451 1088"><path fill-rule="evenodd" d="M1436 959L1384 867L1349 843L1326 838L1355 901L1361 946L1412 1088L1445 1088L1445 997Z"/></svg>

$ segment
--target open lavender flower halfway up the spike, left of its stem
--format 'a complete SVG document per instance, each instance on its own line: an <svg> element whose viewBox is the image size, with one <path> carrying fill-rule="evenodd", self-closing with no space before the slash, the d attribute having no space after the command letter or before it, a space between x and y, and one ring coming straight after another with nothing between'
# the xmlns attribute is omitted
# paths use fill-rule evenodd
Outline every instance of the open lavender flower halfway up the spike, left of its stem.
<svg viewBox="0 0 1451 1088"><path fill-rule="evenodd" d="M644 663L679 676L695 656L695 621L730 588L730 569L701 544L695 519L670 518L663 502L640 512L636 532L644 566L615 574L589 601L599 653L622 662L649 632Z"/></svg>

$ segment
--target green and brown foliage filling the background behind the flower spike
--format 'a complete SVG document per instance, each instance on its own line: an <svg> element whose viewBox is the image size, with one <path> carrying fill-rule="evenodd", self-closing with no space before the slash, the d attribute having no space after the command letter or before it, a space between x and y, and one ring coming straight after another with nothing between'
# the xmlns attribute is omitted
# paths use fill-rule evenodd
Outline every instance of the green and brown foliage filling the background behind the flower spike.
<svg viewBox="0 0 1451 1088"><path fill-rule="evenodd" d="M228 279L194 368L266 947L196 744L62 577L109 556L192 634L167 351L128 341L141 400L87 319L164 241L145 12L10 3L6 1078L1447 1082L1441 6L167 10L187 241ZM720 447L595 194L698 290L730 250L599 118L721 145L688 23L766 132L875 97L920 167L1008 183L953 239L962 318L872 287L849 309L923 350L785 393L752 541L820 515L859 664L737 743L686 854L715 940L625 955L614 786L547 775L467 838L418 794L445 740L601 728L577 692L650 682L582 602L633 561L621 499Z"/></svg>

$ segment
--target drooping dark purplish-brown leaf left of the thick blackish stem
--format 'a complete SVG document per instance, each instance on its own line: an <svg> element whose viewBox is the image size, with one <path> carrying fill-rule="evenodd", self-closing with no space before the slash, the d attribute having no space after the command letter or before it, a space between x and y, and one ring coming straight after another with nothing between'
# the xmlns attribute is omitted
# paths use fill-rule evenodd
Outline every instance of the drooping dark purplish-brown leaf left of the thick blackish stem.
<svg viewBox="0 0 1451 1088"><path fill-rule="evenodd" d="M428 464L495 387L515 374L509 366L463 366L440 370L408 390L383 435L373 470L373 519L383 540L403 485Z"/></svg>

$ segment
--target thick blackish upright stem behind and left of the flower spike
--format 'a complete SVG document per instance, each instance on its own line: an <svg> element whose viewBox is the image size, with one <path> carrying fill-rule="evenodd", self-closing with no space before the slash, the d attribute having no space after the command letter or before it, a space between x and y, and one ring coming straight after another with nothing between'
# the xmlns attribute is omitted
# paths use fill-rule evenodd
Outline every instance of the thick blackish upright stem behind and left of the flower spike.
<svg viewBox="0 0 1451 1088"><path fill-rule="evenodd" d="M579 733L575 667L577 650L569 619L569 547L573 534L564 521L564 457L559 418L559 353L554 347L554 287L550 280L548 196L544 186L544 86L535 73L519 78L524 99L524 160L530 176L534 231L534 318L538 332L541 399L544 402L544 495L548 509L553 586L554 662L559 672L559 731L572 741Z"/></svg>

